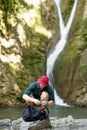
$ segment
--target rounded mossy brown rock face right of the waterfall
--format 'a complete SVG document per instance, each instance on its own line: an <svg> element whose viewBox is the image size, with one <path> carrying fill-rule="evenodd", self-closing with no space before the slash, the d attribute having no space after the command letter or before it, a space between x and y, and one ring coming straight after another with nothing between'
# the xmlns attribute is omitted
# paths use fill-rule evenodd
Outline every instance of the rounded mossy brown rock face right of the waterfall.
<svg viewBox="0 0 87 130"><path fill-rule="evenodd" d="M55 88L60 97L76 106L87 106L86 6L86 0L78 1L67 44L57 58L53 72Z"/></svg>

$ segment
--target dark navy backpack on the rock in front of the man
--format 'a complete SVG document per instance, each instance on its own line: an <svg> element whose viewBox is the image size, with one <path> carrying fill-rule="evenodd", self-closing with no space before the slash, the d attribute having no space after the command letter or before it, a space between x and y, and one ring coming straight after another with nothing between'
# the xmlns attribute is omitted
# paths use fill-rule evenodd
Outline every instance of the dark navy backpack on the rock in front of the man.
<svg viewBox="0 0 87 130"><path fill-rule="evenodd" d="M47 112L45 111L47 110ZM44 120L48 117L49 115L49 110L47 106L45 106L45 109L40 109L37 110L35 108L32 108L31 106L26 106L23 112L23 120L26 122L31 122L31 121L37 121L37 120Z"/></svg>

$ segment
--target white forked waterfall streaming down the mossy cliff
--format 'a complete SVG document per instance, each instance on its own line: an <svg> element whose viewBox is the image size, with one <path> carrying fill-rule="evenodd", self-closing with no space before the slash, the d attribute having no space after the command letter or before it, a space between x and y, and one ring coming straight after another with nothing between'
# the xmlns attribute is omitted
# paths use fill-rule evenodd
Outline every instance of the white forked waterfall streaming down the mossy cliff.
<svg viewBox="0 0 87 130"><path fill-rule="evenodd" d="M61 0L54 0L54 1L56 3L58 15L59 15L60 40L57 42L53 52L47 58L47 75L50 78L51 85L53 84L52 83L53 82L52 81L53 80L53 76L52 76L53 66L54 66L56 58L58 58L58 55L63 50L63 48L65 47L65 44L67 42L68 33L70 30L71 24L73 22L78 0L74 0L74 5L71 10L71 14L70 14L70 17L69 17L69 20L68 20L66 26L64 25L63 17L61 14ZM54 90L54 95L55 95L55 104L67 105L66 103L63 103L63 100L57 95L56 90Z"/></svg>

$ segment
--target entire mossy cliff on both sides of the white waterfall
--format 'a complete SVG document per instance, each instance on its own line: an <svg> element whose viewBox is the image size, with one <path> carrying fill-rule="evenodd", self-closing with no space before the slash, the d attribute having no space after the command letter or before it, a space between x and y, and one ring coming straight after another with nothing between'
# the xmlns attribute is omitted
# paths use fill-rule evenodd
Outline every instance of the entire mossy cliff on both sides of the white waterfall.
<svg viewBox="0 0 87 130"><path fill-rule="evenodd" d="M46 72L47 53L59 38L53 0L1 1L0 105L22 104L22 93ZM15 3L15 4L14 4ZM61 3L65 21L73 1ZM65 102L87 106L87 0L78 0L67 44L55 62L54 87Z"/></svg>

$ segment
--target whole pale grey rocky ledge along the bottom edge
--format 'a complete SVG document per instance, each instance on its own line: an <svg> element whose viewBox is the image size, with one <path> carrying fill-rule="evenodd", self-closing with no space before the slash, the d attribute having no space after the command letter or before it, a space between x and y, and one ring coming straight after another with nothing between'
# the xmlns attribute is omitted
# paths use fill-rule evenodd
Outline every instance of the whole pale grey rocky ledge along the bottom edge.
<svg viewBox="0 0 87 130"><path fill-rule="evenodd" d="M22 118L17 120L0 120L0 130L87 130L87 119L74 119L50 117L47 120L25 122Z"/></svg>

